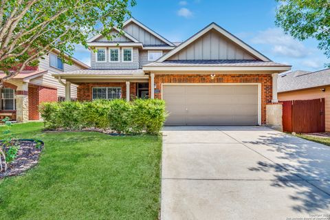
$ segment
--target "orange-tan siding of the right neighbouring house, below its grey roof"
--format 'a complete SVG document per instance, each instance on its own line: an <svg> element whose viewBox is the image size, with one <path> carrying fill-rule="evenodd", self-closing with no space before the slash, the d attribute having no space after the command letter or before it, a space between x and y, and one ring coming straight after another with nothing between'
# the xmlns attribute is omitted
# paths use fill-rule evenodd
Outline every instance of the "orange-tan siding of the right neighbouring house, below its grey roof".
<svg viewBox="0 0 330 220"><path fill-rule="evenodd" d="M309 100L316 98L325 98L325 130L330 131L330 87L326 87L325 91L320 88L305 89L301 91L287 91L278 94L278 100Z"/></svg>

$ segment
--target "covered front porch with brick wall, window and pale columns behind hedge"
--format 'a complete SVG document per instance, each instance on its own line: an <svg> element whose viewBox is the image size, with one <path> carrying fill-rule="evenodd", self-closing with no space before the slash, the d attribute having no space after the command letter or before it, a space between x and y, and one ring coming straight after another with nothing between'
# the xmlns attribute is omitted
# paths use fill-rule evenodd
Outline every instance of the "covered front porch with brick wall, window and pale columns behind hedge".
<svg viewBox="0 0 330 220"><path fill-rule="evenodd" d="M144 74L142 69L85 69L54 74L54 77L65 85L66 100L69 100L72 83L78 85L79 101L154 98L153 89L150 89L153 77Z"/></svg>

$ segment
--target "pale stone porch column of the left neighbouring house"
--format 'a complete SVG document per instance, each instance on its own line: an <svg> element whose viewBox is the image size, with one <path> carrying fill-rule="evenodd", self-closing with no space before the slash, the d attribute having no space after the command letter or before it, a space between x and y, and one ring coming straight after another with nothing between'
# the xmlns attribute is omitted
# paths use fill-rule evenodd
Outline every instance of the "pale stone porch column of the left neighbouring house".
<svg viewBox="0 0 330 220"><path fill-rule="evenodd" d="M29 98L28 83L17 85L16 90L16 120L17 122L28 122L29 120Z"/></svg>

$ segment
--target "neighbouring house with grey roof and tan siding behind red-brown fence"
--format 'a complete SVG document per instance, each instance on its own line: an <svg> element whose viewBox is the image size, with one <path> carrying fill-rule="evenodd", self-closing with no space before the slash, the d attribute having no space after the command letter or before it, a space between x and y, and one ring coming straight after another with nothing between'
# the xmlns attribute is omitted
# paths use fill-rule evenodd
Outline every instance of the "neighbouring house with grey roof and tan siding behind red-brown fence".
<svg viewBox="0 0 330 220"><path fill-rule="evenodd" d="M330 131L330 69L294 71L278 76L278 100L325 98L325 130Z"/></svg>

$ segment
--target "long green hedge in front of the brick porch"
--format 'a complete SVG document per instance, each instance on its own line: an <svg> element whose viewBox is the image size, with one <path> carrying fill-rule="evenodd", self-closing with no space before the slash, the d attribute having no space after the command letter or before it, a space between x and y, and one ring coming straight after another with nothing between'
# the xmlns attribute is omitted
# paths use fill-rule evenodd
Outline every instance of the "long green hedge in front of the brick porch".
<svg viewBox="0 0 330 220"><path fill-rule="evenodd" d="M44 102L45 129L111 129L118 133L158 134L166 119L163 100L122 99L92 102Z"/></svg>

